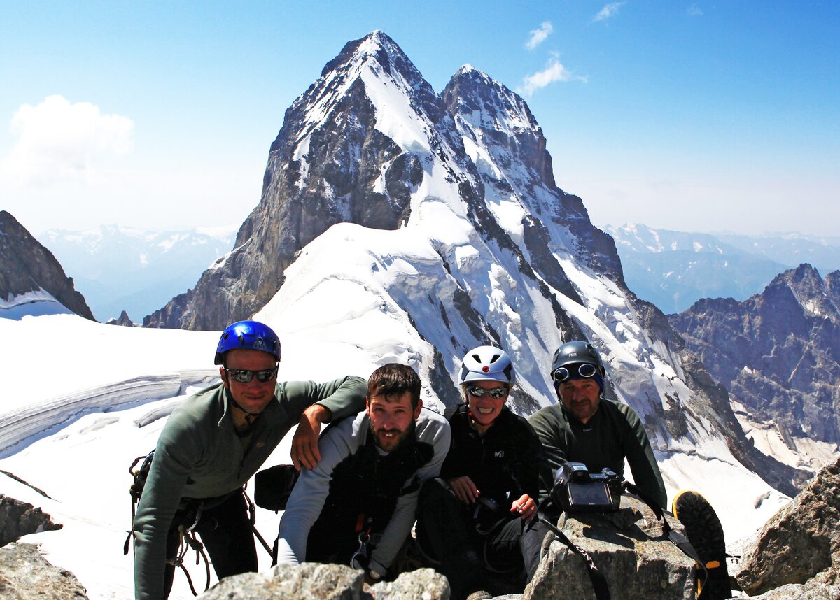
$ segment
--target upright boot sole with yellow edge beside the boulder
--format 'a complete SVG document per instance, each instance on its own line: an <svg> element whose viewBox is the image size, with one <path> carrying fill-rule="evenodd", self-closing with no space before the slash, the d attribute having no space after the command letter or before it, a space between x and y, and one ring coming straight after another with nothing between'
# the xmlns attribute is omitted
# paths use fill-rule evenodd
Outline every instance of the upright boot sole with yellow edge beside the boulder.
<svg viewBox="0 0 840 600"><path fill-rule="evenodd" d="M685 527L685 536L706 565L706 582L697 573L698 600L723 600L732 596L727 571L727 545L715 509L699 492L683 490L671 503L674 516Z"/></svg>

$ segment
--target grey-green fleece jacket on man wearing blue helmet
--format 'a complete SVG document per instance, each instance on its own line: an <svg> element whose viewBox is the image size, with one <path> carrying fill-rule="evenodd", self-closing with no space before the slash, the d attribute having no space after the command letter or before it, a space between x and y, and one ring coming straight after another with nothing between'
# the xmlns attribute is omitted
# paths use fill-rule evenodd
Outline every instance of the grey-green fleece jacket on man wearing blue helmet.
<svg viewBox="0 0 840 600"><path fill-rule="evenodd" d="M164 593L166 534L181 498L216 498L241 488L269 457L303 411L321 404L340 419L365 409L367 382L277 383L275 401L255 421L245 451L234 430L222 383L203 389L172 412L160 432L155 459L134 517L134 596Z"/></svg>

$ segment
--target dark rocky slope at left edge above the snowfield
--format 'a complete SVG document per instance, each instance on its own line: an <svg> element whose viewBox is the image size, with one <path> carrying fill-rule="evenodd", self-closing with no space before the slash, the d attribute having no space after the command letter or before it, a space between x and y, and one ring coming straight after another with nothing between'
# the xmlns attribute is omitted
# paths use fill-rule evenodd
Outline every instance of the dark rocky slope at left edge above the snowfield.
<svg viewBox="0 0 840 600"><path fill-rule="evenodd" d="M0 211L0 299L45 290L76 315L93 321L84 296L55 257L7 211Z"/></svg>

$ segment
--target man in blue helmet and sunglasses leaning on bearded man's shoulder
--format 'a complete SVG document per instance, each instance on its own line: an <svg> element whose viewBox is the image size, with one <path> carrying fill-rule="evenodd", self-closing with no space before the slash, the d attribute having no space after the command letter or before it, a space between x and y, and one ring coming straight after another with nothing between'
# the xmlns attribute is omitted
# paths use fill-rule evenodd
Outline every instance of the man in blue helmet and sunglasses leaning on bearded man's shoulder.
<svg viewBox="0 0 840 600"><path fill-rule="evenodd" d="M365 408L365 379L280 383L280 359L280 339L269 326L228 326L215 357L221 383L186 399L167 420L134 518L135 597L169 595L179 527L188 519L197 523L219 579L256 571L244 484L292 426L292 462L312 468L320 460L321 424Z"/></svg>

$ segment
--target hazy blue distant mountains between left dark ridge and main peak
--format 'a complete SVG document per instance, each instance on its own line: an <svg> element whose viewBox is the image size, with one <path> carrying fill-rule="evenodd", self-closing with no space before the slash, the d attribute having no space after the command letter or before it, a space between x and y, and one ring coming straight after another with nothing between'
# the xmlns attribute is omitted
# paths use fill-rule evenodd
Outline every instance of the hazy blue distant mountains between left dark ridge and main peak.
<svg viewBox="0 0 840 600"><path fill-rule="evenodd" d="M133 321L195 284L227 253L235 227L150 232L108 225L85 231L50 229L38 236L71 275L97 321L125 310Z"/></svg>

